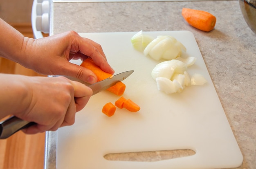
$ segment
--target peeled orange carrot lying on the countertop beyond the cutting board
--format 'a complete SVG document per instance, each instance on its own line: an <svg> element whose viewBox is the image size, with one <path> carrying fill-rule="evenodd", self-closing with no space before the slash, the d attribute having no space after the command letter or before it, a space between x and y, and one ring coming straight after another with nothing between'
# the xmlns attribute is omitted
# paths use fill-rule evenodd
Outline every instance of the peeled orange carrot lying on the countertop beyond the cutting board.
<svg viewBox="0 0 256 169"><path fill-rule="evenodd" d="M191 26L209 32L216 24L216 17L209 12L183 8L182 16Z"/></svg>

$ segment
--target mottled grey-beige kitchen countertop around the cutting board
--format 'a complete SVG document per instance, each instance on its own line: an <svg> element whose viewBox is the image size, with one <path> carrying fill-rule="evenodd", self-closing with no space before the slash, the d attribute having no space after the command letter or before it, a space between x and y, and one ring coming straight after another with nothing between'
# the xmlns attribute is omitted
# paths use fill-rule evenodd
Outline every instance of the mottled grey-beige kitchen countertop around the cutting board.
<svg viewBox="0 0 256 169"><path fill-rule="evenodd" d="M216 16L209 33L187 24L183 7ZM180 2L54 2L50 35L85 32L191 31L243 154L238 169L256 168L256 34L238 0ZM56 132L47 132L45 169L56 168Z"/></svg>

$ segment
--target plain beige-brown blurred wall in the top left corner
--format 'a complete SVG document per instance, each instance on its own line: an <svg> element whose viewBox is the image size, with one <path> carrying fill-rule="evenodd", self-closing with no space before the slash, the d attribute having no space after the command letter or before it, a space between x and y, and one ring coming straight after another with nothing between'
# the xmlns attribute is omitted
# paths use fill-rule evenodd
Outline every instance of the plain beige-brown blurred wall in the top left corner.
<svg viewBox="0 0 256 169"><path fill-rule="evenodd" d="M6 22L31 22L33 0L0 0L0 18Z"/></svg>

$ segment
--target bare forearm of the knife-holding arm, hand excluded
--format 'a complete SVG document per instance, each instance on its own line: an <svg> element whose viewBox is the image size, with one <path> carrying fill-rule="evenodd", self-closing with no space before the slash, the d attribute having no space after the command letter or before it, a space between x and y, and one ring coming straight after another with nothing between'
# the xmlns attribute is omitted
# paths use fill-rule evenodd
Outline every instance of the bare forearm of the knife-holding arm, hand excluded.
<svg viewBox="0 0 256 169"><path fill-rule="evenodd" d="M26 78L22 75L0 73L0 119L25 110L28 94L24 83Z"/></svg>

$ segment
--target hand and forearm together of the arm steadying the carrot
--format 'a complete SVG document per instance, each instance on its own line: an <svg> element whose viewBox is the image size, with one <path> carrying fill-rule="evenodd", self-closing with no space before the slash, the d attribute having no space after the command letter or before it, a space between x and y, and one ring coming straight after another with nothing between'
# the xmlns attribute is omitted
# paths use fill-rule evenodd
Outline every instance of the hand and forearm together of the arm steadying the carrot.
<svg viewBox="0 0 256 169"><path fill-rule="evenodd" d="M0 19L0 56L44 75L68 75L88 83L97 81L89 69L71 64L70 59L90 57L102 70L114 73L99 44L74 31L40 39L24 37Z"/></svg>

